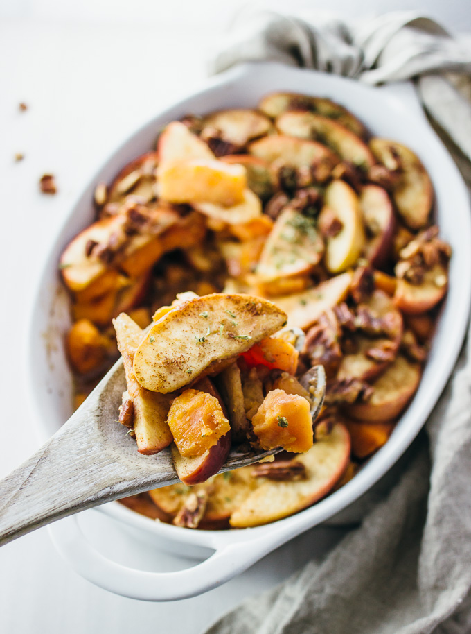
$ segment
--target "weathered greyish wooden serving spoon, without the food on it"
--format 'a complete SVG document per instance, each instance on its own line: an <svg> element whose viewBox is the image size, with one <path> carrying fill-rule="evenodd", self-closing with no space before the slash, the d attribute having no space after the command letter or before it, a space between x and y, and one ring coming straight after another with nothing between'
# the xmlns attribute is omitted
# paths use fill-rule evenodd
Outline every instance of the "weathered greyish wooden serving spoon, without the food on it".
<svg viewBox="0 0 471 634"><path fill-rule="evenodd" d="M326 388L322 366L314 374L313 420ZM116 421L124 389L120 359L60 430L0 481L0 546L66 515L179 481L169 449L154 456L139 454ZM240 453L236 447L221 472L279 451Z"/></svg>

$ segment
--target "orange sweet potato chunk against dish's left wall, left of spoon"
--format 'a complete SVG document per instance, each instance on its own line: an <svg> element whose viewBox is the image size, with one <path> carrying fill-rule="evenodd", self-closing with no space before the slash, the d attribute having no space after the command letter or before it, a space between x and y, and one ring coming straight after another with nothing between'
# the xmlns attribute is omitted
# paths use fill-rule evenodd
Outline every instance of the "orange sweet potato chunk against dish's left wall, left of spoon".
<svg viewBox="0 0 471 634"><path fill-rule="evenodd" d="M66 348L73 369L87 374L105 360L109 342L88 319L76 321L67 334Z"/></svg>

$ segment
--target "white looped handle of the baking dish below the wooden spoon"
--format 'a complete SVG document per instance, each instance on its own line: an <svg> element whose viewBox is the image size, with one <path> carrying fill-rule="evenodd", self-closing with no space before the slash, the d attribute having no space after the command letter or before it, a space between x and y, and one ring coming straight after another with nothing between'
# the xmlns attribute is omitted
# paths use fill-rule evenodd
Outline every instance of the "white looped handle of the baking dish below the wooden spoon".
<svg viewBox="0 0 471 634"><path fill-rule="evenodd" d="M265 554L260 555L260 548L254 548L253 542L237 542L216 547L213 554L192 567L177 572L148 572L126 567L100 554L87 540L76 516L56 522L49 531L62 558L75 572L109 592L141 601L195 597L244 572Z"/></svg>

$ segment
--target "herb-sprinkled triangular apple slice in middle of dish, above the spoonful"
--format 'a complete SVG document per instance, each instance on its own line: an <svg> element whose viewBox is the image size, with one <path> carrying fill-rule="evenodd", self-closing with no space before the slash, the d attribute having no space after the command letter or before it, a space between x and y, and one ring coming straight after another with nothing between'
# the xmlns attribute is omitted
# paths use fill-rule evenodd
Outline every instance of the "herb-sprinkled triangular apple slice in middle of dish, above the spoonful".
<svg viewBox="0 0 471 634"><path fill-rule="evenodd" d="M260 282L310 273L323 254L317 222L292 207L278 216L260 255L256 275Z"/></svg>

